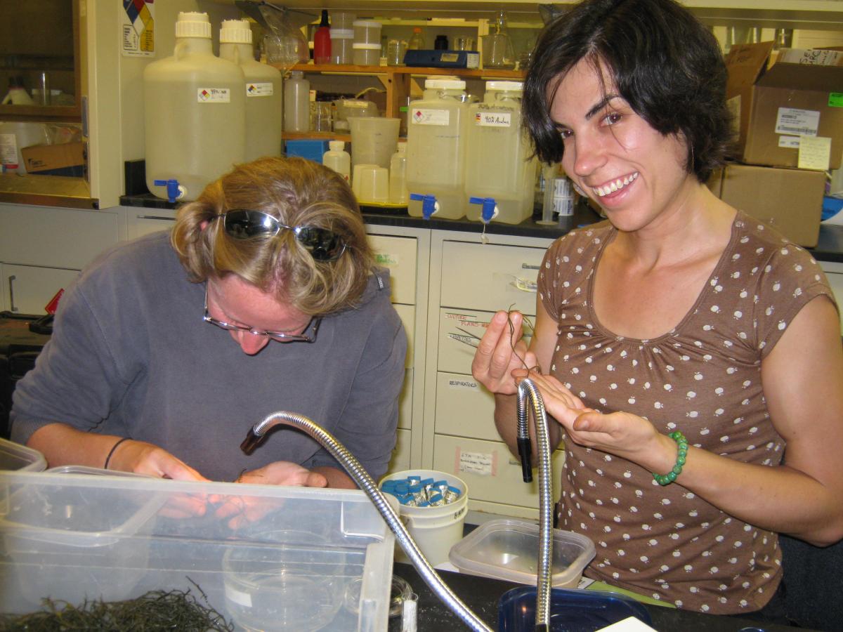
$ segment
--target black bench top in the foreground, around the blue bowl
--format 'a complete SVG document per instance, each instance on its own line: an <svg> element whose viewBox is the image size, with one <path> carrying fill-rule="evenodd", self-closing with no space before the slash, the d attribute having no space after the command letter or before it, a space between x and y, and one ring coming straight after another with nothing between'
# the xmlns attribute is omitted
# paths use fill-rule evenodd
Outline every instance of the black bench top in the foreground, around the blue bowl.
<svg viewBox="0 0 843 632"><path fill-rule="evenodd" d="M419 597L417 604L419 632L443 632L444 630L451 632L470 629L439 600L412 565L395 562L393 572L408 581L413 592ZM448 570L439 570L438 573L465 605L491 629L497 629L497 600L504 592L521 586L510 581L475 577ZM644 607L652 617L652 627L659 632L679 630L682 632L739 632L744 629L786 632L797 629L787 625L759 624L750 619L695 613L647 603ZM389 619L389 632L399 630L400 617Z"/></svg>

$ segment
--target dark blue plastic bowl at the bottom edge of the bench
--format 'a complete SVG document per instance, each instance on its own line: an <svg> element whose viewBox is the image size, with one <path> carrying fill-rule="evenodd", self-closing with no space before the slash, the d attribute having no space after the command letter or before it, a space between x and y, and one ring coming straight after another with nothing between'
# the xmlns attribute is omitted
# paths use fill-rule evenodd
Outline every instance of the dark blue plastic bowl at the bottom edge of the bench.
<svg viewBox="0 0 843 632"><path fill-rule="evenodd" d="M551 632L593 632L628 617L636 617L652 625L647 608L620 593L576 588L550 590ZM534 628L535 586L522 586L504 592L497 603L498 632L522 632Z"/></svg>

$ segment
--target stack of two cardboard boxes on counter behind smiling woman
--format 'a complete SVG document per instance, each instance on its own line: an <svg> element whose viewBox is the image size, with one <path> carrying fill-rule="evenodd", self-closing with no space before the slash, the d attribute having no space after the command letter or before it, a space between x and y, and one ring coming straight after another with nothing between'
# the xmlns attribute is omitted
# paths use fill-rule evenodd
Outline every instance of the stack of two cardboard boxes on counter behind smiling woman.
<svg viewBox="0 0 843 632"><path fill-rule="evenodd" d="M739 126L738 160L710 183L722 200L813 247L826 172L843 158L843 51L733 46L727 98Z"/></svg>

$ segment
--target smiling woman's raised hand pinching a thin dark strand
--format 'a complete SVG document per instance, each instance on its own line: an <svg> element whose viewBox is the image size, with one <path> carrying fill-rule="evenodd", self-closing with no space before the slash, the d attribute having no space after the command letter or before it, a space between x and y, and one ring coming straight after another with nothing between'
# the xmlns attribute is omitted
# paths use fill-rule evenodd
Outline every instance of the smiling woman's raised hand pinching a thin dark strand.
<svg viewBox="0 0 843 632"><path fill-rule="evenodd" d="M512 329L510 329L510 322ZM477 345L471 374L491 393L513 395L518 392L513 371L535 367L535 354L527 351L522 323L524 316L519 312L497 312L486 327L486 333Z"/></svg>

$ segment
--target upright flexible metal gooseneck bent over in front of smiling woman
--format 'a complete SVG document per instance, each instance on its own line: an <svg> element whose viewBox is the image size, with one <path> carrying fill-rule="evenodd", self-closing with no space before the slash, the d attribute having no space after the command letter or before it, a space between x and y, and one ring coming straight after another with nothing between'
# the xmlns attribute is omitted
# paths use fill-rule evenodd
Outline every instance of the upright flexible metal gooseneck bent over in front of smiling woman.
<svg viewBox="0 0 843 632"><path fill-rule="evenodd" d="M532 447L528 421L529 409L533 413L535 435L539 442L539 560L536 565L535 630L550 630L550 573L553 568L553 468L550 462L550 436L547 430L545 401L533 380L524 378L518 383L518 455L524 482L533 480Z"/></svg>

